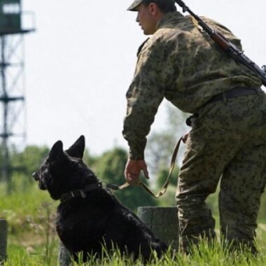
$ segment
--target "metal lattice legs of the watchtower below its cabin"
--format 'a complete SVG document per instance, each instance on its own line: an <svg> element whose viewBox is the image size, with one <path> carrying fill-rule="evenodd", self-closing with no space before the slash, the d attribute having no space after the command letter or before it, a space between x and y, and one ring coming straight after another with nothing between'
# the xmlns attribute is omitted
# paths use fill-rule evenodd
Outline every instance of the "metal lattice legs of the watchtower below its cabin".
<svg viewBox="0 0 266 266"><path fill-rule="evenodd" d="M31 31L34 27L0 31L0 115L3 119L3 124L0 124L0 165L1 180L7 182L8 191L11 190L13 170L9 139L26 138L24 34Z"/></svg>

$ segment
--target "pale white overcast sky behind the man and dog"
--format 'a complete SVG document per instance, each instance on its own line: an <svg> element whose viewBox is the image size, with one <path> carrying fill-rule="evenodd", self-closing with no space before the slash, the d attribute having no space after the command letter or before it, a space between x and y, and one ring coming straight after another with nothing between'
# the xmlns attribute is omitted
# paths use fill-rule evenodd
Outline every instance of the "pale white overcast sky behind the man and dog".
<svg viewBox="0 0 266 266"><path fill-rule="evenodd" d="M186 0L197 15L213 18L242 40L245 53L266 64L266 1ZM90 153L123 139L125 93L139 45L147 38L131 0L23 0L35 14L36 31L25 36L27 145L68 148L85 135ZM179 8L181 11L181 8ZM165 126L163 102L152 127ZM176 139L179 137L177 134Z"/></svg>

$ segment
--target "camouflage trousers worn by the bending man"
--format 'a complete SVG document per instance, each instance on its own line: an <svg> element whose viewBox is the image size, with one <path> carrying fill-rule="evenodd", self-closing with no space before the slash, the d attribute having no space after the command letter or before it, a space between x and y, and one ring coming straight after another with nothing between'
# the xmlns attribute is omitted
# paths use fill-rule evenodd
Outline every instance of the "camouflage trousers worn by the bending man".
<svg viewBox="0 0 266 266"><path fill-rule="evenodd" d="M207 104L191 118L179 174L180 249L214 239L215 220L205 200L216 191L221 236L232 246L255 248L260 197L266 183L266 94Z"/></svg>

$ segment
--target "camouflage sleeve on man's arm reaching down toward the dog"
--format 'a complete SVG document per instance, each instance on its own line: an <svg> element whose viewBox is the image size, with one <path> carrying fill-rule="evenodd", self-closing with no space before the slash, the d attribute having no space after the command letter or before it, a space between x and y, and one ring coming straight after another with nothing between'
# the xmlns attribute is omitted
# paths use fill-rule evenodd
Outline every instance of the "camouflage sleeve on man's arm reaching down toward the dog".
<svg viewBox="0 0 266 266"><path fill-rule="evenodd" d="M130 146L132 160L144 159L146 136L150 132L158 106L165 96L165 82L162 76L164 49L161 43L150 41L141 50L134 79L127 91L127 115L123 136Z"/></svg>

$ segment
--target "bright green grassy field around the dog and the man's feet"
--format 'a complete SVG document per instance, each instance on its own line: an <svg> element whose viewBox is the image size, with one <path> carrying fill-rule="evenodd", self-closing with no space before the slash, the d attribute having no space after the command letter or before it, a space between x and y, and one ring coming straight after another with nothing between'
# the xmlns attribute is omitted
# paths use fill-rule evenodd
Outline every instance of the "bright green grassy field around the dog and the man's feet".
<svg viewBox="0 0 266 266"><path fill-rule="evenodd" d="M0 218L8 221L8 259L7 266L58 265L59 241L54 228L55 209L47 192L36 188L36 184L17 183L15 192L5 195L0 186ZM260 254L254 258L249 253L232 254L223 250L218 243L209 248L200 244L193 255L167 253L160 260L153 258L148 265L266 265L266 223L258 226L258 248ZM74 263L73 265L84 265ZM143 265L141 260L133 263L123 258L118 251L102 260L92 258L86 265Z"/></svg>

